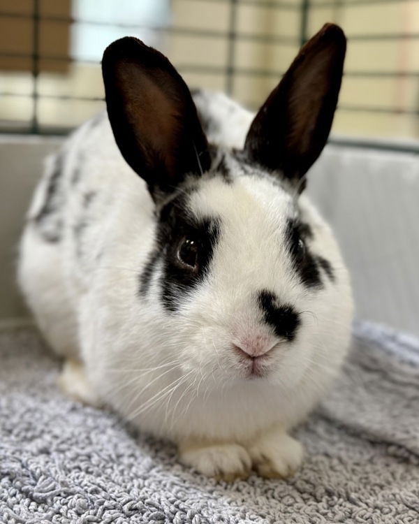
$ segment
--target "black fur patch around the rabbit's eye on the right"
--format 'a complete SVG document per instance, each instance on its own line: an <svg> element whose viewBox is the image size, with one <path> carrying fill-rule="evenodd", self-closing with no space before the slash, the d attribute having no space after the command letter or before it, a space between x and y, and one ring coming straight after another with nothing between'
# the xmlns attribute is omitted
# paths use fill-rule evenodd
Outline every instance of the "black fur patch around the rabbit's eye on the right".
<svg viewBox="0 0 419 524"><path fill-rule="evenodd" d="M291 254L293 266L304 286L321 288L321 274L316 256L312 255L304 242L304 227L296 219L290 219L286 230L288 252ZM307 234L307 230L305 231Z"/></svg>

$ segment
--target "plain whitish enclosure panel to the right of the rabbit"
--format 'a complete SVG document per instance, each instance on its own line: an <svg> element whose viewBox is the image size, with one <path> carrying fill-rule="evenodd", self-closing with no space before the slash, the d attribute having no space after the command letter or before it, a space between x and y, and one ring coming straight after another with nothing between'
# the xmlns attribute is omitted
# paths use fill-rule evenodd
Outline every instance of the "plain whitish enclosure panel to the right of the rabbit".
<svg viewBox="0 0 419 524"><path fill-rule="evenodd" d="M328 145L308 184L351 270L358 318L418 335L418 155Z"/></svg>

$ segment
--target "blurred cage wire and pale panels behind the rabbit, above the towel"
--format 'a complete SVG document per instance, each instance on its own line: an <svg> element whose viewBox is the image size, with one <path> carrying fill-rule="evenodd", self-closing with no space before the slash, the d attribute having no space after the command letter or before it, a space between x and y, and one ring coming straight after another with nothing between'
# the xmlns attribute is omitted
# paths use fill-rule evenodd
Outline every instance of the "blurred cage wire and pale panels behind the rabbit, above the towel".
<svg viewBox="0 0 419 524"><path fill-rule="evenodd" d="M100 61L137 36L190 87L255 109L325 22L348 37L309 193L353 275L357 316L419 334L419 0L0 0L0 319L25 315L17 238L42 160L103 110Z"/></svg>

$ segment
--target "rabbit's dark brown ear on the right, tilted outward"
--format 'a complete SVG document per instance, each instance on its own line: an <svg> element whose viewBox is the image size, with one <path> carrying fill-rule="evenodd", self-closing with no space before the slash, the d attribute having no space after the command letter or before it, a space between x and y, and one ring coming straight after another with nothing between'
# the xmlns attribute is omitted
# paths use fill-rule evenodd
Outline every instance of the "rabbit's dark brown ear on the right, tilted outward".
<svg viewBox="0 0 419 524"><path fill-rule="evenodd" d="M346 52L344 32L325 24L260 108L244 150L252 161L298 183L321 154L332 126Z"/></svg>

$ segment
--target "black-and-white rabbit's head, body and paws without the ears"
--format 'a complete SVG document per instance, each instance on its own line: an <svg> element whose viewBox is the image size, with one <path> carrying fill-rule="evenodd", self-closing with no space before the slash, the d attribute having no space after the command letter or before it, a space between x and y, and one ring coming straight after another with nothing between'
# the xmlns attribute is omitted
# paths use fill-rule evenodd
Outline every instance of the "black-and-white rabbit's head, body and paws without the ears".
<svg viewBox="0 0 419 524"><path fill-rule="evenodd" d="M217 147L173 188L145 174L147 191L106 115L71 136L34 196L20 285L71 359L68 391L177 442L206 474L284 475L301 460L286 431L346 354L348 274L308 199L243 154L253 115L195 101Z"/></svg>

